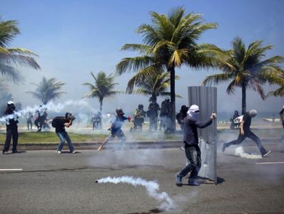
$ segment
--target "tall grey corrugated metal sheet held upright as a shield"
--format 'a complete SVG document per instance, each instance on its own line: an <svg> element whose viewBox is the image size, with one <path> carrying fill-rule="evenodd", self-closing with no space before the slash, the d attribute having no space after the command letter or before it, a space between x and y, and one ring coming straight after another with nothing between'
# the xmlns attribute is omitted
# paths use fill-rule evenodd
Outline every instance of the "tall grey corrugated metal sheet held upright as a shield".
<svg viewBox="0 0 284 214"><path fill-rule="evenodd" d="M207 86L188 87L189 107L198 105L200 107L200 120L208 120L212 112L217 113L217 88ZM199 176L214 180L217 184L217 120L205 129L199 129L200 149L202 152L202 167Z"/></svg>

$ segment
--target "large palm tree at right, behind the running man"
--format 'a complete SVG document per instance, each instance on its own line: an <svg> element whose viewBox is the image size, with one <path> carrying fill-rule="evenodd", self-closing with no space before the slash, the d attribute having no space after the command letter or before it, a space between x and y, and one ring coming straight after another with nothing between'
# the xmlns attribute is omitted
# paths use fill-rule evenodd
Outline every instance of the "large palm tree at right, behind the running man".
<svg viewBox="0 0 284 214"><path fill-rule="evenodd" d="M232 44L232 50L223 51L224 61L220 63L222 73L206 76L202 84L230 82L226 90L228 94L233 94L235 87L241 87L241 111L245 114L246 90L254 89L264 100L263 84L274 82L275 75L281 72L279 64L284 58L272 56L263 60L265 51L271 50L273 46L263 46L262 41L254 41L246 47L244 42L236 37Z"/></svg>

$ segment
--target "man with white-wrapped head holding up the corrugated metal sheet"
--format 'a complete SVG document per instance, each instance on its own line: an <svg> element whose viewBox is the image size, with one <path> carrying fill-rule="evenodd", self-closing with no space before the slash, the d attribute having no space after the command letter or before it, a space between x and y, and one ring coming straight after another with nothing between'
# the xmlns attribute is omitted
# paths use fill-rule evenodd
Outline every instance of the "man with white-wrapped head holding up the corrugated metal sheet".
<svg viewBox="0 0 284 214"><path fill-rule="evenodd" d="M206 122L198 120L199 107L191 105L187 112L187 117L183 120L183 142L185 143L185 156L187 156L187 166L182 171L176 174L176 185L182 186L182 177L185 177L189 172L188 184L191 186L199 186L196 182L196 177L201 167L201 151L198 147L198 131L197 128L205 128L211 125L212 120L217 116L213 112L211 117Z"/></svg>

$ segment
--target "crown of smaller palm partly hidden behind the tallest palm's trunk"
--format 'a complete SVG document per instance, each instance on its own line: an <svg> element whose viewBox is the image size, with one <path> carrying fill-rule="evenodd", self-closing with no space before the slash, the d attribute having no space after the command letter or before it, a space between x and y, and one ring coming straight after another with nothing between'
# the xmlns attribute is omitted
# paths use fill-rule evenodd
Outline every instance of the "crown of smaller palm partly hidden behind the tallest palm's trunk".
<svg viewBox="0 0 284 214"><path fill-rule="evenodd" d="M176 76L176 79L178 79L178 76ZM137 73L128 81L126 92L128 94L150 95L149 100L156 101L157 96L171 95L171 93L168 92L169 83L170 78L168 72L158 71L149 76L140 76L140 73ZM138 89L134 89L134 87Z"/></svg>

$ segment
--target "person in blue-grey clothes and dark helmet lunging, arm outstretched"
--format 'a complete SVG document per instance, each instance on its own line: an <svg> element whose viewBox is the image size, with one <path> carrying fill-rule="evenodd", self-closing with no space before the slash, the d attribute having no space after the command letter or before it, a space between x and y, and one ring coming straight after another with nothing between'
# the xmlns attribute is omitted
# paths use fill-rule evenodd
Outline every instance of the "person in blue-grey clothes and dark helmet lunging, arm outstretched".
<svg viewBox="0 0 284 214"><path fill-rule="evenodd" d="M110 130L110 136L108 136L108 138L106 138L106 140L104 140L104 142L102 143L102 145L99 146L99 148L97 149L97 151L101 151L104 147L104 145L106 145L106 143L110 140L113 140L115 138L115 136L117 136L117 138L119 138L119 140L121 140L121 145L123 144L123 142L126 141L126 136L123 133L123 131L121 130L121 127L123 126L123 123L125 120L128 120L128 122L131 121L131 117L126 118L124 115L124 112L121 108L117 108L116 109L117 115L115 116L115 118L113 118L112 122L111 122L111 126L108 130Z"/></svg>

